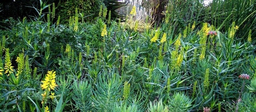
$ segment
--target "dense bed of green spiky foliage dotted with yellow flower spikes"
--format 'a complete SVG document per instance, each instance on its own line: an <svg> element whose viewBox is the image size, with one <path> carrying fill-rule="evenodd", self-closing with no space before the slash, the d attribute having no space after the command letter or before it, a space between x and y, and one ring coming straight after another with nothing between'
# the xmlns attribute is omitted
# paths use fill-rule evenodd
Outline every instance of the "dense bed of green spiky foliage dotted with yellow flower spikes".
<svg viewBox="0 0 256 112"><path fill-rule="evenodd" d="M170 0L162 22L100 4L87 21L40 0L38 15L2 21L0 111L255 112L256 2L241 3Z"/></svg>

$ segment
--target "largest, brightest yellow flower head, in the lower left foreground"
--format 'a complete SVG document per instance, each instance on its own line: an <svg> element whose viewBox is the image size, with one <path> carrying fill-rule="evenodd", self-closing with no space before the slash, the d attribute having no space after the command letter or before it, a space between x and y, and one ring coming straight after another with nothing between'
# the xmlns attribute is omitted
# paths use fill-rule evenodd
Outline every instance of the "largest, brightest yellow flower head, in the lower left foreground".
<svg viewBox="0 0 256 112"><path fill-rule="evenodd" d="M44 90L50 91L51 89L54 90L54 88L57 86L55 83L56 78L56 72L55 71L48 71L45 77L44 81L41 81L43 84L41 85L41 88Z"/></svg>

